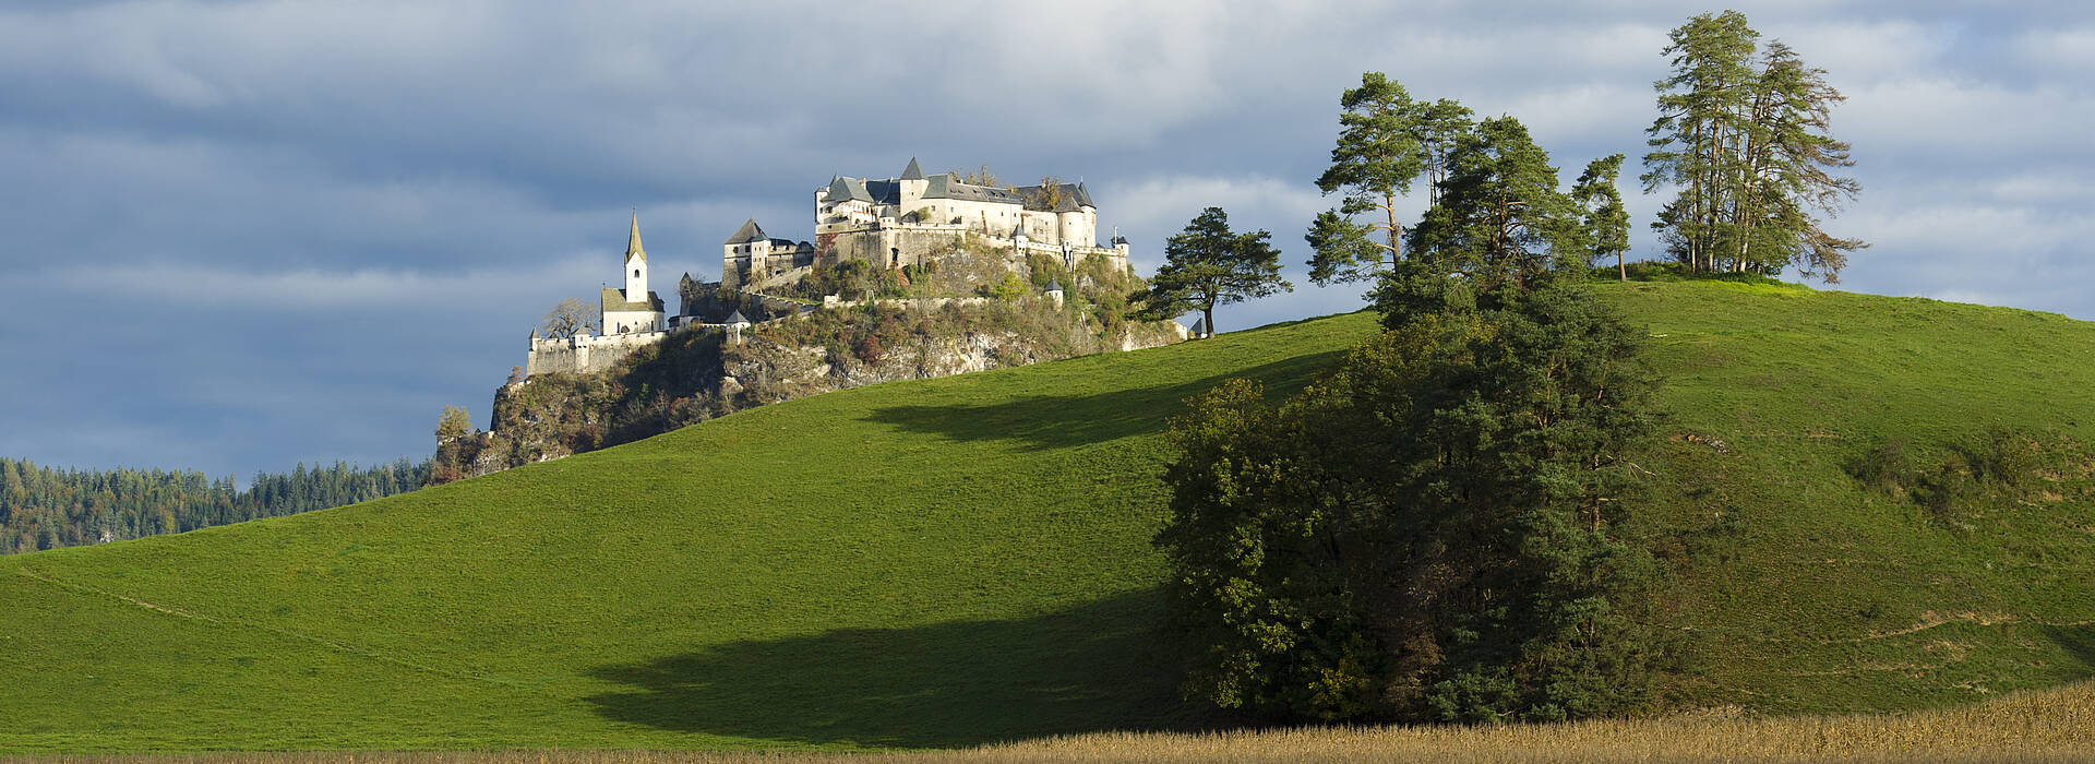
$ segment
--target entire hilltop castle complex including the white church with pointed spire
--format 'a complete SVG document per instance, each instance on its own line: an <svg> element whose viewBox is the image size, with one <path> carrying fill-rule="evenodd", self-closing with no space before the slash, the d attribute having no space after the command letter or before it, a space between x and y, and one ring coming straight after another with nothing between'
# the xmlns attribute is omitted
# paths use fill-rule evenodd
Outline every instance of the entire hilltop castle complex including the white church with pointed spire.
<svg viewBox="0 0 2095 764"><path fill-rule="evenodd" d="M844 260L907 268L951 251L951 245L968 237L987 239L1012 255L1056 255L1066 268L1091 257L1127 268L1125 239L1112 237L1106 247L1098 245L1098 205L1081 180L1039 186L970 184L955 174L926 176L911 157L901 178L832 176L828 186L817 188L813 243L775 239L754 218L744 222L723 245L716 287L763 295L765 289L796 283L815 266ZM589 327L578 327L568 337L541 337L532 329L526 377L603 370L635 350L662 341L670 331L733 333L748 324L740 312L712 324L693 316L691 306L681 306L677 316L662 310L662 297L647 291L639 214L626 234L620 276L624 289L605 287L599 293L597 335Z"/></svg>

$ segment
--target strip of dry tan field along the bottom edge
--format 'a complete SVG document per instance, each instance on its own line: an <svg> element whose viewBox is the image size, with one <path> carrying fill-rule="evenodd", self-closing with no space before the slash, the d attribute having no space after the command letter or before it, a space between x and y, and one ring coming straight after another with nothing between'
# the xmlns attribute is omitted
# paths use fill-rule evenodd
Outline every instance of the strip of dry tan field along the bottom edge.
<svg viewBox="0 0 2095 764"><path fill-rule="evenodd" d="M1351 726L1242 733L1094 733L960 751L291 751L42 756L38 764L670 764L670 762L2095 762L2095 682L1886 716L1510 726Z"/></svg>

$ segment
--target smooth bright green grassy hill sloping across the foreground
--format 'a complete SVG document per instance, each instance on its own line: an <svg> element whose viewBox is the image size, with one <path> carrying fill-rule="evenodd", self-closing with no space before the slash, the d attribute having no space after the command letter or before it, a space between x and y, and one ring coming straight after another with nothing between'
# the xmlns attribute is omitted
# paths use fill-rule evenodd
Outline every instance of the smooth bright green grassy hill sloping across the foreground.
<svg viewBox="0 0 2095 764"><path fill-rule="evenodd" d="M1944 705L2095 674L2095 324L1607 285L1670 435L1684 705ZM0 751L947 747L1167 726L1163 421L1374 316L846 389L406 496L0 559ZM2051 433L2028 492L1932 469Z"/></svg>

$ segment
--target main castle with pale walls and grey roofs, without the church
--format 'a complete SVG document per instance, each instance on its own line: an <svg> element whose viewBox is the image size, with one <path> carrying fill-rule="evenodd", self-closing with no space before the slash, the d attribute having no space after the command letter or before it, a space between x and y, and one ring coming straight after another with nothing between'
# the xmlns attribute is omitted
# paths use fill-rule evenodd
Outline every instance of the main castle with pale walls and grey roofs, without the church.
<svg viewBox="0 0 2095 764"><path fill-rule="evenodd" d="M1052 253L1075 266L1108 257L1127 268L1127 241L1098 245L1098 205L1083 182L989 186L953 174L926 176L916 157L901 178L832 176L815 188L815 241L775 239L748 220L723 243L721 287L767 289L802 268L863 260L905 268L962 237L999 241L1018 253Z"/></svg>

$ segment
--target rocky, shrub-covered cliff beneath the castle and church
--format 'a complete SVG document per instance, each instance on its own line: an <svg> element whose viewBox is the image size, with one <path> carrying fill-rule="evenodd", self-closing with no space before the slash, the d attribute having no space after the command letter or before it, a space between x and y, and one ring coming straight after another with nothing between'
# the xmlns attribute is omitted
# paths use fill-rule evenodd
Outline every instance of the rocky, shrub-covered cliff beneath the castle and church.
<svg viewBox="0 0 2095 764"><path fill-rule="evenodd" d="M1041 270L1033 268L1029 280ZM515 379L494 394L490 431L440 446L434 475L484 475L832 389L1182 339L1173 322L1127 318L1125 295L1140 285L1131 274L1045 276L1039 280L1068 278L1062 299L1004 289L974 299L830 306L735 335L672 333L601 373Z"/></svg>

